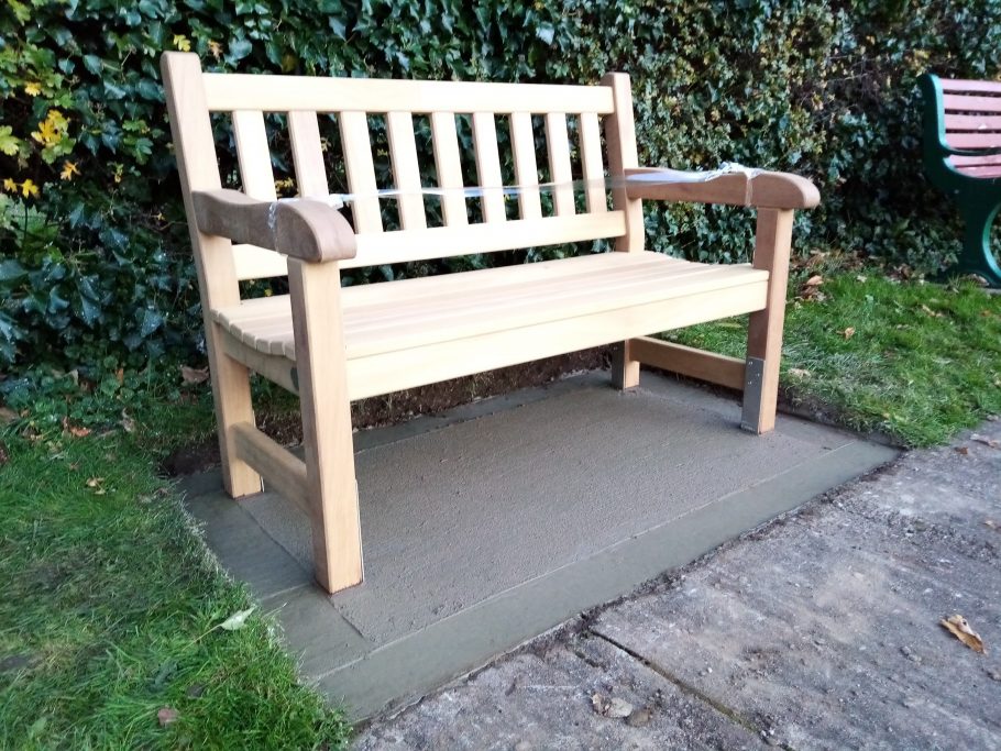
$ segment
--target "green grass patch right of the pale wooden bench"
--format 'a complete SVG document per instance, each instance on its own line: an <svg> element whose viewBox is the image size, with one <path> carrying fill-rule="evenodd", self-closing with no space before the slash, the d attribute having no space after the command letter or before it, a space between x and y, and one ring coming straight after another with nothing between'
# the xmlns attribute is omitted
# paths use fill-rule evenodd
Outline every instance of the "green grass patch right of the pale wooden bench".
<svg viewBox="0 0 1001 751"><path fill-rule="evenodd" d="M782 387L793 405L904 446L946 442L1001 413L1001 296L878 269L816 270L790 285ZM807 286L811 276L823 283ZM740 357L746 351L737 320L670 339Z"/></svg>

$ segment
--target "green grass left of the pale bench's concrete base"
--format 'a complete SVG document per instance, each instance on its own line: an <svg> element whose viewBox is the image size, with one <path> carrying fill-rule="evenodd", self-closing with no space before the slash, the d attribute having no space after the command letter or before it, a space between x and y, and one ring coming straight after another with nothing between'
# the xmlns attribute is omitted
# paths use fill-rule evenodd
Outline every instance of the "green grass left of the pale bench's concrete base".
<svg viewBox="0 0 1001 751"><path fill-rule="evenodd" d="M252 600L156 476L157 454L210 429L210 410L147 407L132 433L54 429L43 409L2 435L0 748L345 744L350 727L298 683L267 614L218 628Z"/></svg>

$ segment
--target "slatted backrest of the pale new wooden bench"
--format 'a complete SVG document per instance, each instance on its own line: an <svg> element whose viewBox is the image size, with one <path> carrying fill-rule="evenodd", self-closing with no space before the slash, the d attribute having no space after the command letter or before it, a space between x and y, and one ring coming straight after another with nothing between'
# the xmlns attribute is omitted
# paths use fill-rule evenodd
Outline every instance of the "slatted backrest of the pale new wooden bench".
<svg viewBox="0 0 1001 751"><path fill-rule="evenodd" d="M616 189L609 210L604 184L606 169L614 176L637 166L629 79L623 74L606 76L601 86L205 74L197 56L168 53L164 76L186 198L221 183L211 113L232 120L240 184L253 198L276 198L268 113L286 118L298 195L328 196L326 165L341 161L348 190L355 196L351 214L358 234L358 256L341 262L342 267L604 238L618 238L618 250L642 246L639 201ZM418 148L415 120L430 131L425 150ZM342 153L326 153L337 139L324 137L321 128L337 129ZM373 159L373 129L382 128L392 185L380 184ZM460 135L468 131L471 139L463 150ZM540 165L537 135L543 133ZM508 178L521 187L516 199L502 189L510 186L502 175L507 162L514 164ZM551 201L541 199L540 166L547 180L558 184ZM429 199L441 202L440 227L428 227L422 174L437 176L432 187L448 189L440 199ZM573 179L582 180L576 190ZM483 190L466 197L464 187ZM378 196L385 188L402 194ZM517 200L516 217L507 216L508 200ZM384 227L384 201L396 203L398 229ZM471 222L471 216L477 221ZM243 245L233 253L240 279L286 273L285 259L271 251Z"/></svg>

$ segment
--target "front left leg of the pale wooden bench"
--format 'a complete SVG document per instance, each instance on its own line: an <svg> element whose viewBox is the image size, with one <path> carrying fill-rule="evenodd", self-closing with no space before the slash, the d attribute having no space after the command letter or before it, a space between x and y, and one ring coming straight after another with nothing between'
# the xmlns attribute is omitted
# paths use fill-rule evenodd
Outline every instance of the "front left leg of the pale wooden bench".
<svg viewBox="0 0 1001 751"><path fill-rule="evenodd" d="M328 592L361 584L361 522L351 404L336 263L288 259L306 487L317 582Z"/></svg>

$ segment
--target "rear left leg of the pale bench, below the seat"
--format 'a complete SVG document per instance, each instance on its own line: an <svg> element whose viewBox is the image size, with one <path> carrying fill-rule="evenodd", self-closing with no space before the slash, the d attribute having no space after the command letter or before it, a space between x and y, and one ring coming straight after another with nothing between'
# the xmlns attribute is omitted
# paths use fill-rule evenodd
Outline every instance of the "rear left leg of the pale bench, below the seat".
<svg viewBox="0 0 1001 751"><path fill-rule="evenodd" d="M212 401L216 406L219 453L222 460L222 485L230 497L242 498L261 493L261 475L250 464L237 459L232 433L232 427L235 424L254 424L250 373L242 363L238 363L223 352L218 325L215 321L206 321Z"/></svg>

